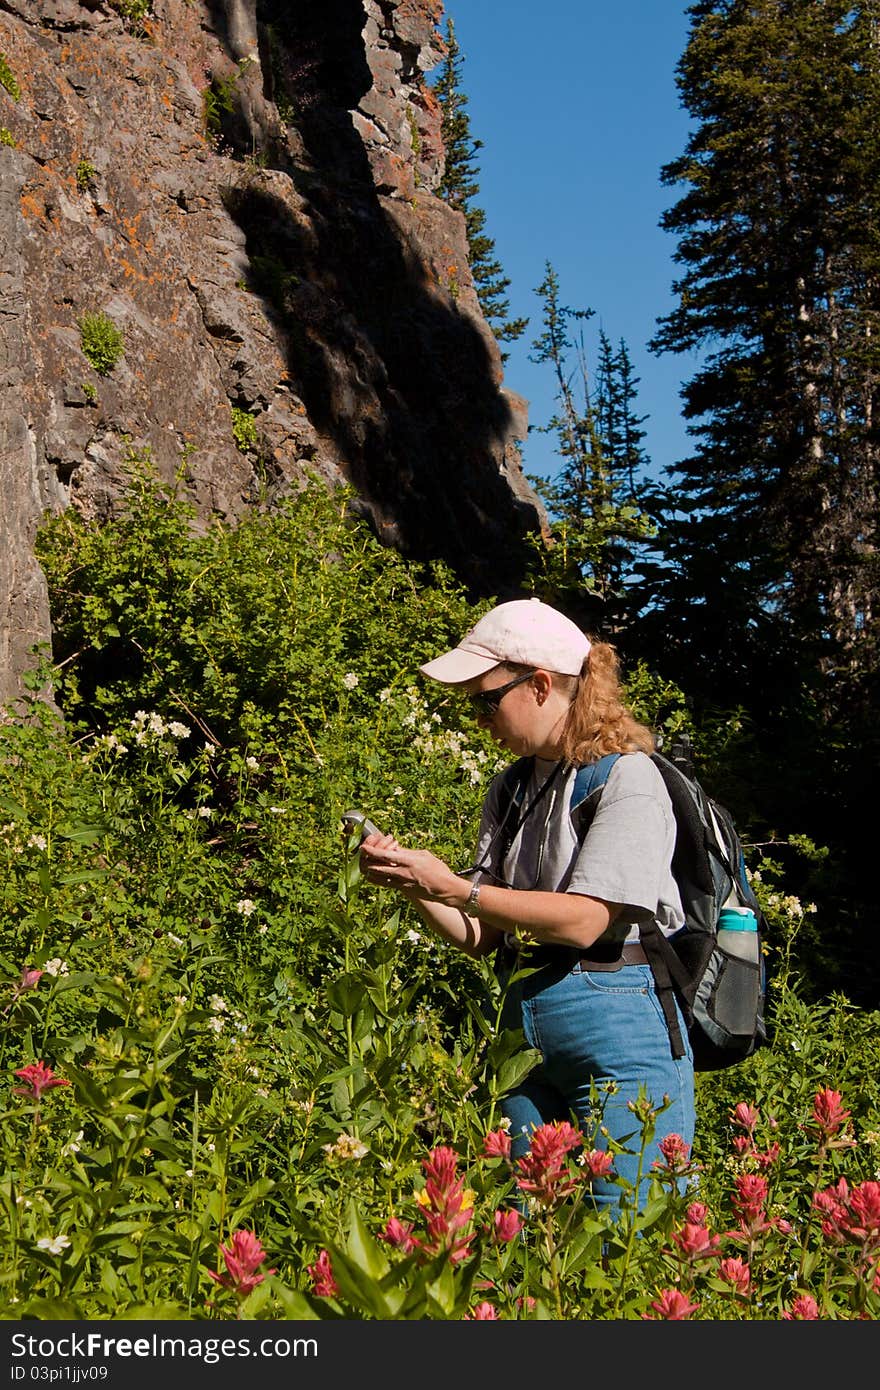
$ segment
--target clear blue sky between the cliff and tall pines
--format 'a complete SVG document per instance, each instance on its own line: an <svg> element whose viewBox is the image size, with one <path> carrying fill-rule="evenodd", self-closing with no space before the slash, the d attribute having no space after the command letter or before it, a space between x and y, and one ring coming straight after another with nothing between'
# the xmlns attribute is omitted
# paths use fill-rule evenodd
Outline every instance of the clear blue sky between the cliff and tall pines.
<svg viewBox="0 0 880 1390"><path fill-rule="evenodd" d="M599 325L612 343L626 341L659 471L690 452L678 393L695 368L694 357L646 348L674 303L676 239L659 220L676 197L659 172L690 129L674 79L687 6L446 0L446 14L464 58L471 136L482 140L475 202L510 277L510 317L530 318L505 366L506 386L530 402L525 471L552 477L560 467L552 436L534 430L553 413L551 373L528 360L546 261L562 303L595 310L585 327L591 366Z"/></svg>

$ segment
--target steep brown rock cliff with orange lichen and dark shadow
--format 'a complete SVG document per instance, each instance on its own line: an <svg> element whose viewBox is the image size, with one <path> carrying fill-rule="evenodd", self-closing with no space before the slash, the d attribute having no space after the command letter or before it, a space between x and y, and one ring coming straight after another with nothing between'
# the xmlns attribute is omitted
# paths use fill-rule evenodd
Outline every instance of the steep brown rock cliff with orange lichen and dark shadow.
<svg viewBox="0 0 880 1390"><path fill-rule="evenodd" d="M435 195L439 19L0 0L0 698L50 632L40 518L108 514L133 459L203 518L350 482L386 543L516 585L544 513ZM115 361L83 352L88 316Z"/></svg>

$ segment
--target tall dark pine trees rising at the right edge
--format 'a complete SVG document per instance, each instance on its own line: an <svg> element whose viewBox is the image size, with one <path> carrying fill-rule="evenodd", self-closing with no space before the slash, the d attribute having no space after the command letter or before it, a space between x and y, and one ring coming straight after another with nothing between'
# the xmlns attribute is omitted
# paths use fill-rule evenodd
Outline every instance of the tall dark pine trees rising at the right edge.
<svg viewBox="0 0 880 1390"><path fill-rule="evenodd" d="M826 694L834 671L876 664L877 14L691 7L678 88L698 126L662 175L685 189L663 218L683 274L653 348L706 356L683 392L696 448L671 470L655 578L709 687L722 642L744 680L776 664L781 699L794 659Z"/></svg>

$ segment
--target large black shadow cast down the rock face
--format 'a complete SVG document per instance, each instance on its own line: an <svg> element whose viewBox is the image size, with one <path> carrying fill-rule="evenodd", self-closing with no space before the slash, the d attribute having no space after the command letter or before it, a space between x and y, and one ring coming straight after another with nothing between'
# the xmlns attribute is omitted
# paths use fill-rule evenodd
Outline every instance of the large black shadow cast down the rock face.
<svg viewBox="0 0 880 1390"><path fill-rule="evenodd" d="M478 324L431 282L438 200L380 197L350 111L373 85L360 0L259 0L261 68L304 158L229 195L291 386L377 534L474 592L519 581L537 512L502 473L512 417ZM295 190L295 192L293 192ZM442 235L441 235L442 239Z"/></svg>

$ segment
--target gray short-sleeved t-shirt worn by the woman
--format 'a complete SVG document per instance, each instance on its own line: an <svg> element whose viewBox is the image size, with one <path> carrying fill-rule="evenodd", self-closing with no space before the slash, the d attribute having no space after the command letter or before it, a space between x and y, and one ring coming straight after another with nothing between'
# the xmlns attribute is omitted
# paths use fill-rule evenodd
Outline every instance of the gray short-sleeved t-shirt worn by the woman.
<svg viewBox="0 0 880 1390"><path fill-rule="evenodd" d="M520 810L525 810L557 764L537 758ZM482 806L477 881L512 888L580 892L621 910L603 940L638 941L639 922L653 919L669 935L684 923L681 897L671 873L676 819L669 792L646 753L624 753L613 764L594 820L578 842L569 815L577 770L557 773L527 815L500 860L500 778L492 780ZM516 824L516 813L513 824Z"/></svg>

